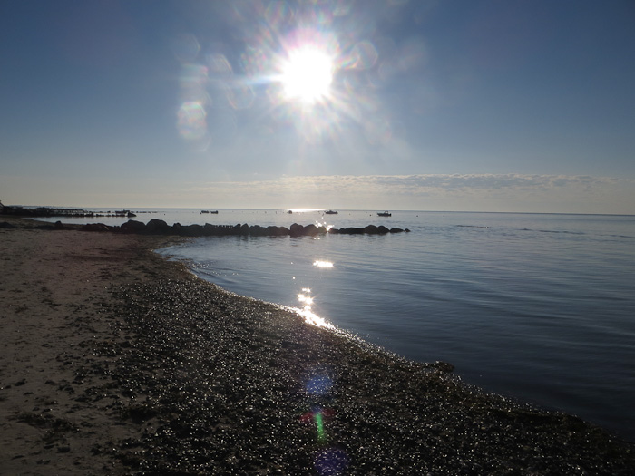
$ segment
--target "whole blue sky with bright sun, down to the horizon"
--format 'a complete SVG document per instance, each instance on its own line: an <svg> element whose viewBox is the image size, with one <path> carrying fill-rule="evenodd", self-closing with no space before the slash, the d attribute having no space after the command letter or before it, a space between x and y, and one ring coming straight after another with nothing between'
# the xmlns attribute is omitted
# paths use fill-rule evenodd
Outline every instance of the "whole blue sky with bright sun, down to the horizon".
<svg viewBox="0 0 635 476"><path fill-rule="evenodd" d="M635 214L631 0L2 0L0 200Z"/></svg>

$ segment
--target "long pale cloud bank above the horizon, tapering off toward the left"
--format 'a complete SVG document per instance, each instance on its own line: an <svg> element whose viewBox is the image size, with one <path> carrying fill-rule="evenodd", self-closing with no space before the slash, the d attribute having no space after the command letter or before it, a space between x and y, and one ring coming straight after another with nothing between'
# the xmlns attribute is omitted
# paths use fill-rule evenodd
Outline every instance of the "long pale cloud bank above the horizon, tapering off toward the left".
<svg viewBox="0 0 635 476"><path fill-rule="evenodd" d="M632 213L635 182L589 175L282 176L190 189L230 207ZM227 199L227 201L224 201ZM251 203L251 205L247 205Z"/></svg>

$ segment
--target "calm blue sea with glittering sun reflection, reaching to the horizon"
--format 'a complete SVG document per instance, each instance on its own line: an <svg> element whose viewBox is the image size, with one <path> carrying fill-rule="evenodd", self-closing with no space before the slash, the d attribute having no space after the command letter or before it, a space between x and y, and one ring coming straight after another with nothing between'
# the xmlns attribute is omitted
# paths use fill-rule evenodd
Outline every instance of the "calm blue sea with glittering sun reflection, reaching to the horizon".
<svg viewBox="0 0 635 476"><path fill-rule="evenodd" d="M385 225L386 235L194 238L158 252L466 384L635 442L635 216L139 209L135 219ZM215 210L214 210L215 211ZM64 219L121 224L127 219Z"/></svg>

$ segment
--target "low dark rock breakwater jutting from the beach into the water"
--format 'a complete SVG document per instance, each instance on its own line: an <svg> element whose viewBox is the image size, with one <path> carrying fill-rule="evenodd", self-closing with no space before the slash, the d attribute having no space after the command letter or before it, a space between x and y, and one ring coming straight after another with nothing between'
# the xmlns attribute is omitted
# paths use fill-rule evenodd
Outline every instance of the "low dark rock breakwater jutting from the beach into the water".
<svg viewBox="0 0 635 476"><path fill-rule="evenodd" d="M147 224L142 221L130 219L122 226L108 226L103 223L91 223L84 225L84 231L112 231L115 233L136 233L146 235L175 235L180 237L223 237L229 235L251 236L251 237L315 237L331 233L334 235L383 235L386 233L409 232L408 228L386 228L368 225L364 228L326 228L316 225L298 225L294 223L290 228L286 227L261 227L259 225L238 224L238 225L181 225L175 223L168 225L162 219L151 219Z"/></svg>

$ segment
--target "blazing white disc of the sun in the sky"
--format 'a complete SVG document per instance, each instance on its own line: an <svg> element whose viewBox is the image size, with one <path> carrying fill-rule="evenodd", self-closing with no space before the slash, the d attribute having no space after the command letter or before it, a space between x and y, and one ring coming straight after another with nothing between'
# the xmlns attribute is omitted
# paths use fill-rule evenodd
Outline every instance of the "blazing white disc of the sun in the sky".
<svg viewBox="0 0 635 476"><path fill-rule="evenodd" d="M289 52L280 75L285 96L305 104L323 100L333 82L333 70L332 58L314 46Z"/></svg>

